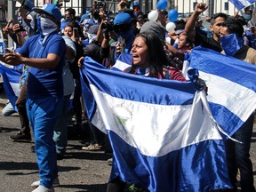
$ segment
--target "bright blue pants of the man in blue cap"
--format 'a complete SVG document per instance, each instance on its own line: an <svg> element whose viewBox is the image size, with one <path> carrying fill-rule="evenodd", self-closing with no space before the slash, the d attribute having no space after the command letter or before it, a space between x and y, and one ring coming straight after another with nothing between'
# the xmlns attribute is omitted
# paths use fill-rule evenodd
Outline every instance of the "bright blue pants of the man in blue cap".
<svg viewBox="0 0 256 192"><path fill-rule="evenodd" d="M26 105L35 139L40 185L52 188L53 180L58 177L53 128L62 114L63 96L28 98Z"/></svg>

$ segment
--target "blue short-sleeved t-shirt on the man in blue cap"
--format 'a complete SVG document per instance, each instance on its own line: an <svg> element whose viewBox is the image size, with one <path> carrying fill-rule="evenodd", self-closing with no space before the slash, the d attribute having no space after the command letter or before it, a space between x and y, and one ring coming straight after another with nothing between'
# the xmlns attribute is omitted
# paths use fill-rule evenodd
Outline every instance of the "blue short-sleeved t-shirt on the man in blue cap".
<svg viewBox="0 0 256 192"><path fill-rule="evenodd" d="M62 68L65 64L66 44L57 33L49 35L44 43L43 40L41 35L31 36L22 47L17 49L22 56L29 58L47 58L49 53L60 57L60 62L52 70L29 68L29 98L63 95Z"/></svg>

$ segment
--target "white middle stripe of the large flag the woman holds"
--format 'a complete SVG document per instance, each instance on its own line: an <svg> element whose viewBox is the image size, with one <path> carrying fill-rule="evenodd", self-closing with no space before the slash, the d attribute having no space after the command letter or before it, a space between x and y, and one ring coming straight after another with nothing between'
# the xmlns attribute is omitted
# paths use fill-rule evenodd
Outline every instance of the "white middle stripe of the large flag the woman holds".
<svg viewBox="0 0 256 192"><path fill-rule="evenodd" d="M197 106L163 106L117 99L100 92L92 84L90 87L106 129L116 132L143 155L164 156L204 140L222 139L211 117L205 111L200 115L202 105L199 104L199 96L195 97ZM198 113L192 114L195 107ZM189 116L193 116L193 119L188 119ZM96 118L99 120L99 116Z"/></svg>

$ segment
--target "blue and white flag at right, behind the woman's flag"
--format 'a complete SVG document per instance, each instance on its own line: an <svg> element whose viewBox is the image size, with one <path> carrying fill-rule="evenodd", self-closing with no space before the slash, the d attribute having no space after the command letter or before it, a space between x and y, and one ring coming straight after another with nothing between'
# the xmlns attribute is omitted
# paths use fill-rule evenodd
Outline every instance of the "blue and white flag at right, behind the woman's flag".
<svg viewBox="0 0 256 192"><path fill-rule="evenodd" d="M212 115L232 135L256 108L256 66L203 47L191 52L190 67L207 87Z"/></svg>

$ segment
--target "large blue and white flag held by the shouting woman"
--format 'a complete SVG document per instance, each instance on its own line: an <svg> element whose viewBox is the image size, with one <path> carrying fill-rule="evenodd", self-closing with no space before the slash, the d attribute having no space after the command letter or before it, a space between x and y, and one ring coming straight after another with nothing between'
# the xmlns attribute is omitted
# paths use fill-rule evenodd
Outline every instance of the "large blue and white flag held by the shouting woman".
<svg viewBox="0 0 256 192"><path fill-rule="evenodd" d="M149 191L230 188L223 140L203 91L109 70L88 57L80 75L85 102L95 100L86 104L90 120L113 148L110 180L119 176Z"/></svg>

